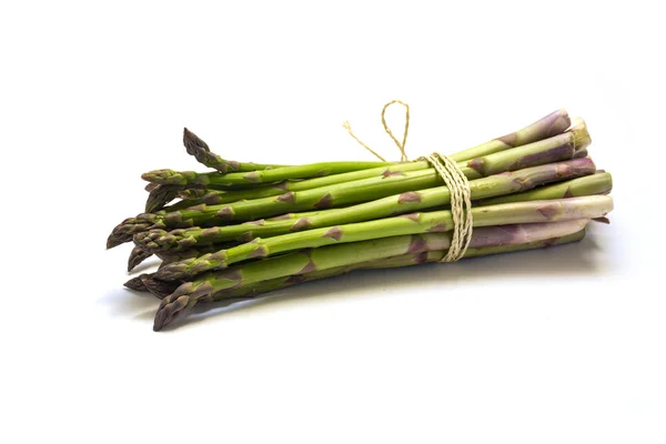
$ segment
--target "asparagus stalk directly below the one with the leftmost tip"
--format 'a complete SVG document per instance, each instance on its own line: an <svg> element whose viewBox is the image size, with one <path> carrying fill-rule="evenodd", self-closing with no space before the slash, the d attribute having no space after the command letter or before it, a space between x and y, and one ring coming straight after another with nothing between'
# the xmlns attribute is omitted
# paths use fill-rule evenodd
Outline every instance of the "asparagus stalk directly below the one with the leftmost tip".
<svg viewBox="0 0 666 444"><path fill-rule="evenodd" d="M574 159L474 180L470 182L470 190L472 199L478 200L529 190L552 181L592 174L594 171L595 165L591 159ZM448 189L446 186L437 186L422 191L410 191L345 209L320 211L313 215L301 215L297 220L280 218L280 220L259 220L236 225L209 229L192 228L172 230L170 232L154 229L137 234L134 242L142 249L152 252L179 251L192 248L193 245L234 240L248 242L258 236L270 238L290 232L410 213L442 206L450 201L451 194Z"/></svg>

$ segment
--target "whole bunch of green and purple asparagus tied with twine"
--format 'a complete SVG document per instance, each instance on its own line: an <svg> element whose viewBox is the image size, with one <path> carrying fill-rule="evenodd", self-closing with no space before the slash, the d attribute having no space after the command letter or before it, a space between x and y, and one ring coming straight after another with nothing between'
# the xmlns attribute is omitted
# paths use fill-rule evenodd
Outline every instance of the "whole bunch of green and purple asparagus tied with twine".
<svg viewBox="0 0 666 444"><path fill-rule="evenodd" d="M162 300L154 330L205 303L446 255L451 192L425 160L259 164L225 160L186 129L183 143L215 171L144 173L147 212L107 242L133 241L130 270L152 254L162 261L125 283ZM452 154L473 199L464 258L576 242L588 221L607 221L612 176L587 157L589 143L585 122L558 110Z"/></svg>

